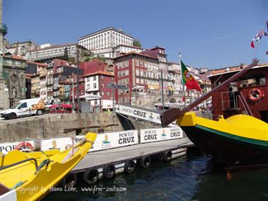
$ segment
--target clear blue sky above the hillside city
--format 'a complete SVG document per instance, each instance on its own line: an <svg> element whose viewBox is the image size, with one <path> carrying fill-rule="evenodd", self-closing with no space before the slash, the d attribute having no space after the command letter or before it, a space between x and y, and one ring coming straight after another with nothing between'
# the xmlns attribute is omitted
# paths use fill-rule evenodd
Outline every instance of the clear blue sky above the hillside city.
<svg viewBox="0 0 268 201"><path fill-rule="evenodd" d="M9 42L63 45L107 27L143 47L164 47L169 62L218 69L268 62L268 36L250 42L268 21L267 0L3 0Z"/></svg>

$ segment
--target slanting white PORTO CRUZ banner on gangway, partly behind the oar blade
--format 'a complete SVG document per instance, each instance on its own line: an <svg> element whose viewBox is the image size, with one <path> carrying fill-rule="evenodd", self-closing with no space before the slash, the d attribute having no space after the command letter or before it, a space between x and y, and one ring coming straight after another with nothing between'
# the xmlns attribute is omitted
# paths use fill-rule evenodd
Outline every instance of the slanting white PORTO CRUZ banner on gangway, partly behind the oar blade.
<svg viewBox="0 0 268 201"><path fill-rule="evenodd" d="M121 113L123 115L129 115L138 119L161 124L160 113L154 113L148 110L133 108L128 105L116 105L116 113ZM168 127L177 127L176 122L172 122L168 125Z"/></svg>

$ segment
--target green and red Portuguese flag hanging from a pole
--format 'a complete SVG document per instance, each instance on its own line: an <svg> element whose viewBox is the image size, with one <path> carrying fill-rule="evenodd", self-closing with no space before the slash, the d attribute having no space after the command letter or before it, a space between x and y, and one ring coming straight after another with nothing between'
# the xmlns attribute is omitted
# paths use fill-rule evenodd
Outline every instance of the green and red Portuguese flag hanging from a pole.
<svg viewBox="0 0 268 201"><path fill-rule="evenodd" d="M197 91L202 91L199 84L190 74L189 70L185 67L182 61L181 61L181 67L182 67L182 84L185 84L188 90L195 89Z"/></svg>

